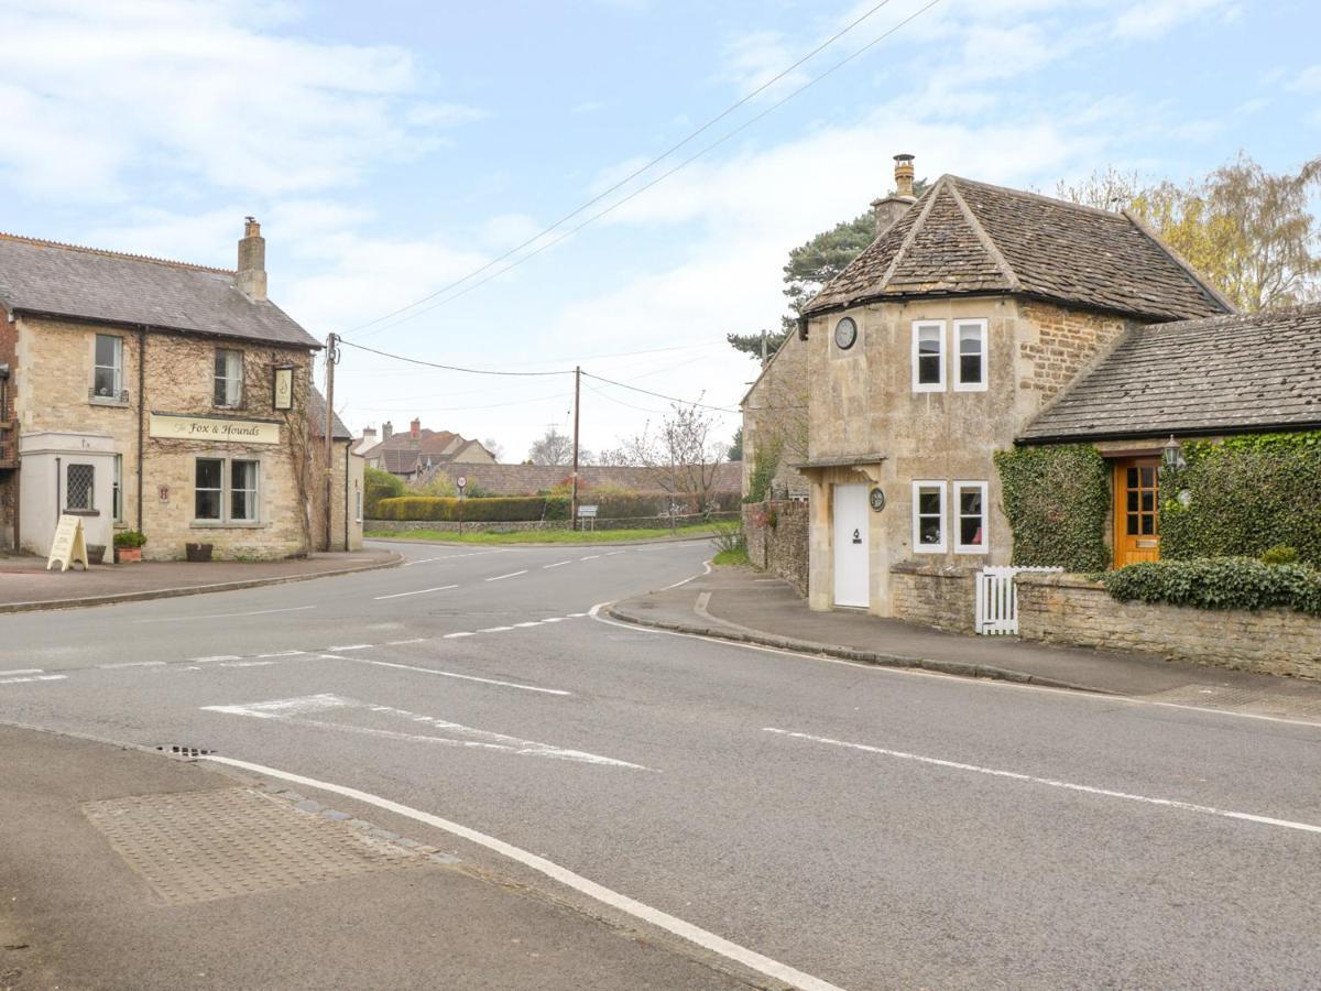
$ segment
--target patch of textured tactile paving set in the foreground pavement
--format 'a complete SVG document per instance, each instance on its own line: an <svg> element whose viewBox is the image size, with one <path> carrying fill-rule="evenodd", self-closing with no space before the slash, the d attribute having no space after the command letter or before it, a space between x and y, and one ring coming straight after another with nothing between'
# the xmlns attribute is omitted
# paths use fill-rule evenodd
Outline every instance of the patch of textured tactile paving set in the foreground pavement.
<svg viewBox="0 0 1321 991"><path fill-rule="evenodd" d="M170 905L431 863L248 788L112 798L82 809Z"/></svg>

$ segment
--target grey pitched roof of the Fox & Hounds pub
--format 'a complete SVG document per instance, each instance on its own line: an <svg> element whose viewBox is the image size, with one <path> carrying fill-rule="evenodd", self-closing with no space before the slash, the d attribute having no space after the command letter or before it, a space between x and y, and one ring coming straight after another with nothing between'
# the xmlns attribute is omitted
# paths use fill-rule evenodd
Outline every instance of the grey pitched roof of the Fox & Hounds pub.
<svg viewBox="0 0 1321 991"><path fill-rule="evenodd" d="M264 344L321 345L234 272L0 234L0 301L11 311L148 324Z"/></svg>

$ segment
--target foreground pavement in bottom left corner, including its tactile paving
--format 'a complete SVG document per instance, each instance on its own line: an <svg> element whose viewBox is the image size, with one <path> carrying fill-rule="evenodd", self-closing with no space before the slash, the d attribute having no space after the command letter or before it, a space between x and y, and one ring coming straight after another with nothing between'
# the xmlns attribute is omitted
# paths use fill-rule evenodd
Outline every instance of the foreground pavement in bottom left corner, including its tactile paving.
<svg viewBox="0 0 1321 991"><path fill-rule="evenodd" d="M0 753L4 991L748 987L345 802L12 727Z"/></svg>

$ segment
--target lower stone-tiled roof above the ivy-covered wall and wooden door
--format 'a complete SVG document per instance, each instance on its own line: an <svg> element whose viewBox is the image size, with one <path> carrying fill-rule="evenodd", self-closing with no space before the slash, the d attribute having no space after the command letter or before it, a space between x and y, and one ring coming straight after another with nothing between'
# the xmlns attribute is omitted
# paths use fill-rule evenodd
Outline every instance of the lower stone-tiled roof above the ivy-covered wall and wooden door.
<svg viewBox="0 0 1321 991"><path fill-rule="evenodd" d="M1321 427L1321 304L1131 329L1025 443Z"/></svg>

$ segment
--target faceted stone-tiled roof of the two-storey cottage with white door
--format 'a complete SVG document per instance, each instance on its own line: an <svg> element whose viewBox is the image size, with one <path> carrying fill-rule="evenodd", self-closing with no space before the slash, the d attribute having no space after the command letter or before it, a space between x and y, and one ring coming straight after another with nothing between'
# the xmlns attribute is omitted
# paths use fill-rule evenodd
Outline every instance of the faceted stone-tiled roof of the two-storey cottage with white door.
<svg viewBox="0 0 1321 991"><path fill-rule="evenodd" d="M807 305L1022 293L1149 320L1234 308L1135 217L942 176Z"/></svg>

